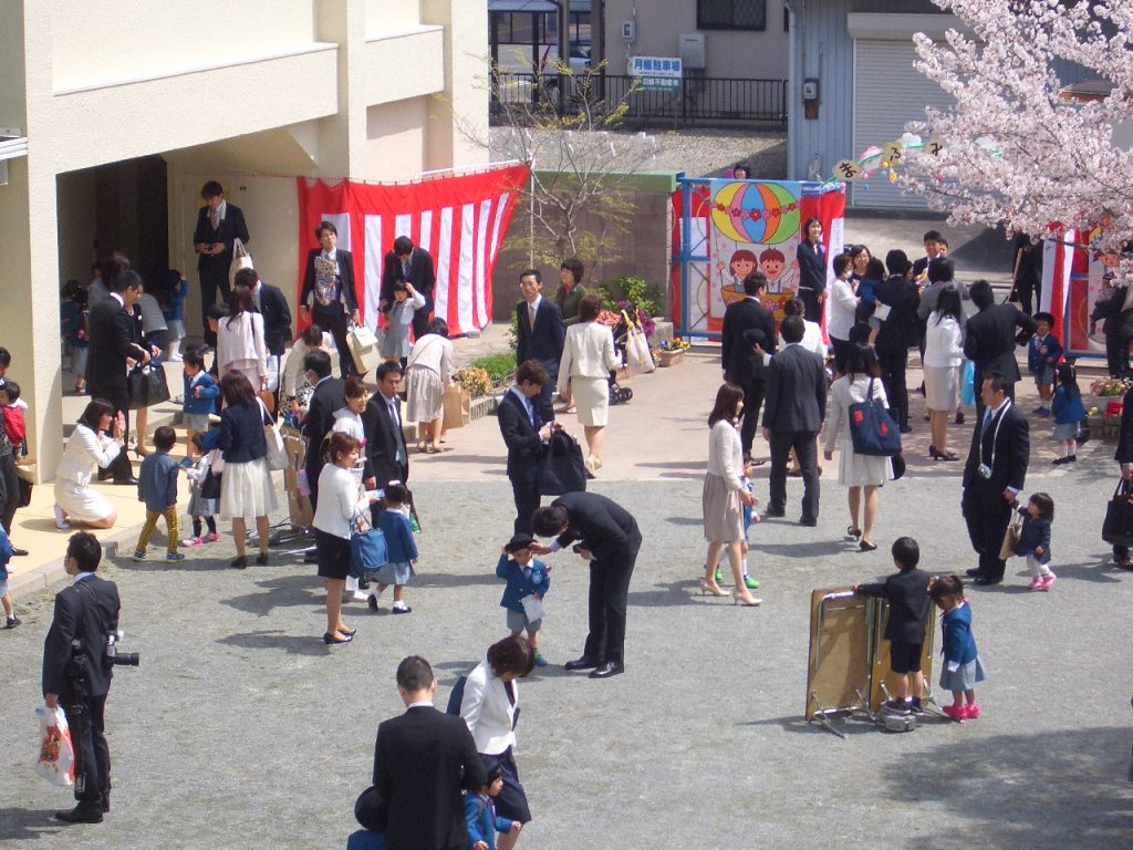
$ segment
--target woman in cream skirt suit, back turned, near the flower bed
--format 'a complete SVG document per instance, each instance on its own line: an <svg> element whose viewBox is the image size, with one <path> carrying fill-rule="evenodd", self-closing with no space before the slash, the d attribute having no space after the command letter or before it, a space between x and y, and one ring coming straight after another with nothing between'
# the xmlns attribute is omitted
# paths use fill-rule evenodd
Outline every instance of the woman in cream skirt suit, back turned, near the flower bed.
<svg viewBox="0 0 1133 850"><path fill-rule="evenodd" d="M570 397L578 408L578 422L586 433L586 468L594 475L602 468L602 430L610 413L610 373L621 365L614 352L614 334L598 324L602 299L588 295L578 306L578 324L566 329L559 360L559 394Z"/></svg>

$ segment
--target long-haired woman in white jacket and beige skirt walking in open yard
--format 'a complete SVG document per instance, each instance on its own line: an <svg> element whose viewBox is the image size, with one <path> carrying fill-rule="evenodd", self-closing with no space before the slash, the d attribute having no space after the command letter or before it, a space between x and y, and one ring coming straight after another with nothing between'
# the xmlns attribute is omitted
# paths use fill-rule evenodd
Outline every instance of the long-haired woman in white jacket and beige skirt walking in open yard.
<svg viewBox="0 0 1133 850"><path fill-rule="evenodd" d="M721 549L727 552L735 589L736 604L758 605L743 581L743 505L756 500L743 487L743 447L735 422L743 410L743 390L735 384L722 384L716 391L716 405L708 416L712 435L708 439L708 471L701 496L705 520L705 539L708 541L708 560L700 579L700 593L727 596L727 590L716 584L716 564Z"/></svg>

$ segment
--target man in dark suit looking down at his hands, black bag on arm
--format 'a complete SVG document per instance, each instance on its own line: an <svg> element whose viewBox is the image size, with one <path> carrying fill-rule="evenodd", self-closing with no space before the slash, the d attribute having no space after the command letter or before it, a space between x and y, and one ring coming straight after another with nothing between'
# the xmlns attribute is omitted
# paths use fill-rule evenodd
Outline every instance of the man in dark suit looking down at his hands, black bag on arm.
<svg viewBox="0 0 1133 850"><path fill-rule="evenodd" d="M496 413L500 434L508 447L508 479L516 499L516 534L531 533L531 515L539 507L543 449L551 439L552 426L539 416L535 399L548 381L538 360L523 360L516 368L516 383L500 401Z"/></svg>

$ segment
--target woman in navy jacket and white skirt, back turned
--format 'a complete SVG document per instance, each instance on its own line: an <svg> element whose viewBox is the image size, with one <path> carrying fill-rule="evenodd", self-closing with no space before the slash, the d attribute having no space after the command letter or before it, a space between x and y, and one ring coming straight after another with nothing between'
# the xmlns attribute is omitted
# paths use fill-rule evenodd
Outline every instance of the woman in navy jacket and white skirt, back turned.
<svg viewBox="0 0 1133 850"><path fill-rule="evenodd" d="M221 379L220 386L225 405L220 415L220 440L216 442L224 458L220 517L232 520L237 556L229 566L242 570L248 566L244 549L249 517L255 519L259 537L256 563L267 563L267 515L276 508L264 436L264 425L270 418L248 379L240 372L229 372Z"/></svg>

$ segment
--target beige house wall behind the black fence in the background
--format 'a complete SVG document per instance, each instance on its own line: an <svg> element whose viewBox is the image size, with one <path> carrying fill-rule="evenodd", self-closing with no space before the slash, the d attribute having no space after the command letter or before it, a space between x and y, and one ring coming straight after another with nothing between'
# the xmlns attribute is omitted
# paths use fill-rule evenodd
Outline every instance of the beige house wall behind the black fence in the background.
<svg viewBox="0 0 1133 850"><path fill-rule="evenodd" d="M606 0L606 59L611 74L625 74L631 56L675 57L682 33L702 32L708 77L785 79L787 33L783 3L766 0L764 31L697 29L696 0ZM637 41L622 39L622 23L637 25Z"/></svg>

